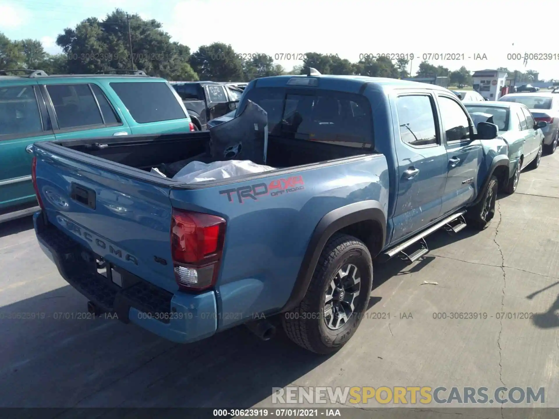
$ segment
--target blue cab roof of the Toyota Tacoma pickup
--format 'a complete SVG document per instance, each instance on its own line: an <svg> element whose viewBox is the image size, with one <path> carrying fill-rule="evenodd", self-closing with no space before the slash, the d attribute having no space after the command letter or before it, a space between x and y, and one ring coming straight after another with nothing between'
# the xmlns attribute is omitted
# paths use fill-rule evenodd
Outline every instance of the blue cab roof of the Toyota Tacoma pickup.
<svg viewBox="0 0 559 419"><path fill-rule="evenodd" d="M409 80L384 77L368 77L366 75L278 75L256 79L255 87L283 87L287 86L287 82L293 78L316 78L319 79L318 86L316 87L346 92L359 92L365 84L377 85L382 89L421 88L448 91L448 89L435 84L411 82ZM293 87L301 86L293 85Z"/></svg>

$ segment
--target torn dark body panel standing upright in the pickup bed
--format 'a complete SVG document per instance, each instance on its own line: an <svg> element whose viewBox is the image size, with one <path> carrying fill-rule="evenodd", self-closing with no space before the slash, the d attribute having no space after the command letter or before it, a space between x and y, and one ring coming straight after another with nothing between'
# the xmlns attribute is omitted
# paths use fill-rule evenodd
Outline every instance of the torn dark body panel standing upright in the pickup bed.
<svg viewBox="0 0 559 419"><path fill-rule="evenodd" d="M210 128L210 150L216 160L251 160L266 164L268 115L252 101L232 120Z"/></svg>

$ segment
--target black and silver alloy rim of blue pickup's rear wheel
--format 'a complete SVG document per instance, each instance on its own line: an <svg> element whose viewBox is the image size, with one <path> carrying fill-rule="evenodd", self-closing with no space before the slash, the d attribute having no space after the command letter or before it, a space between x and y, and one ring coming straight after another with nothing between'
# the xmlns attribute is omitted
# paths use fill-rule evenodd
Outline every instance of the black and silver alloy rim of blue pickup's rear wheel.
<svg viewBox="0 0 559 419"><path fill-rule="evenodd" d="M324 322L330 330L338 330L355 311L361 291L361 274L356 265L345 264L334 275L324 298Z"/></svg>

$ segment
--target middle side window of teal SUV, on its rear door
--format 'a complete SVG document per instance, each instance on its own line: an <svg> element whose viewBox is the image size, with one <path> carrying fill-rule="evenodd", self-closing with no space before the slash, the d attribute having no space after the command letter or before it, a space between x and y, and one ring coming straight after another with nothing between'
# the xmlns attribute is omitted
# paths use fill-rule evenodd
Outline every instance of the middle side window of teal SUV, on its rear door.
<svg viewBox="0 0 559 419"><path fill-rule="evenodd" d="M88 84L50 84L46 90L61 130L102 125L101 113Z"/></svg>

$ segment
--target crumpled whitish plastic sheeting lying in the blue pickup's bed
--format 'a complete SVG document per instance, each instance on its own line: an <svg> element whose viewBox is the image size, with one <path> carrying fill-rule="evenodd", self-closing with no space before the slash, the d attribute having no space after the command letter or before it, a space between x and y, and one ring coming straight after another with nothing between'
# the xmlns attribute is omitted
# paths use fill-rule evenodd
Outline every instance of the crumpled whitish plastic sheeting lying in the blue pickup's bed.
<svg viewBox="0 0 559 419"><path fill-rule="evenodd" d="M274 168L256 164L250 160L214 161L214 163L209 164L201 161L191 161L174 175L173 179L184 183L196 183L268 172L269 170L274 170Z"/></svg>

